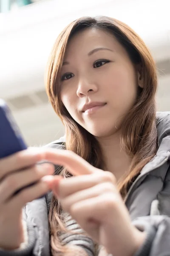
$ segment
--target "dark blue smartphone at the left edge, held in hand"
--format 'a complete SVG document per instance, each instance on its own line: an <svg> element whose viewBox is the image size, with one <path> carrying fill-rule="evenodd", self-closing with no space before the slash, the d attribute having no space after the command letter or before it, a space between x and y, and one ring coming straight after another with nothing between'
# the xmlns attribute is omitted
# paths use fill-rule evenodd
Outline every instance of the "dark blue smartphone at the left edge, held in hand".
<svg viewBox="0 0 170 256"><path fill-rule="evenodd" d="M17 126L8 105L3 99L0 99L0 158L8 157L9 155L24 149L27 149L27 145L22 137L20 129ZM28 186L34 184L35 182ZM14 195L22 189L17 190Z"/></svg>

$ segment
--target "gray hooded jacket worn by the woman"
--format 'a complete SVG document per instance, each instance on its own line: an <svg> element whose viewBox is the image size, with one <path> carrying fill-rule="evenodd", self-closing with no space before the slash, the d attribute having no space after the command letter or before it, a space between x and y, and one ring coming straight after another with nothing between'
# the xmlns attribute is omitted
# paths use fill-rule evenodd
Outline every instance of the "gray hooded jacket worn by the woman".
<svg viewBox="0 0 170 256"><path fill-rule="evenodd" d="M133 256L170 256L170 112L158 112L158 143L156 156L147 163L133 182L125 204L133 224L147 237ZM48 146L63 148L63 138ZM64 148L63 148L64 149ZM28 242L13 251L0 250L0 256L50 256L48 211L51 192L34 200L23 209L27 224ZM65 215L68 229L80 230L76 221ZM89 256L97 255L90 238L81 235L62 234L65 244L83 247Z"/></svg>

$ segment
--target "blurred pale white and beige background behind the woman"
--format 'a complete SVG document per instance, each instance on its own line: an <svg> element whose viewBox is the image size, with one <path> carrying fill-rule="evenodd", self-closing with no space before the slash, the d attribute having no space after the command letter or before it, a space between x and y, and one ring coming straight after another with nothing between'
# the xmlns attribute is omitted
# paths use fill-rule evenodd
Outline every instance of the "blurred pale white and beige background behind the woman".
<svg viewBox="0 0 170 256"><path fill-rule="evenodd" d="M170 111L169 5L169 0L0 0L0 98L28 145L45 145L64 134L48 103L44 70L59 32L81 16L115 17L142 37L158 68L157 110Z"/></svg>

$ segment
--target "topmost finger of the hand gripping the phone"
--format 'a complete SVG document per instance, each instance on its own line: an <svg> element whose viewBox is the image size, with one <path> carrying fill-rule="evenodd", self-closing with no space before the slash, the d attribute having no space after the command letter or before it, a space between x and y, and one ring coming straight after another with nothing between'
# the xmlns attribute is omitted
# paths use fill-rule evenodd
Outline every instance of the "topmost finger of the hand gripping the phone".
<svg viewBox="0 0 170 256"><path fill-rule="evenodd" d="M9 172L23 169L44 160L42 148L28 148L0 159L0 180Z"/></svg>

